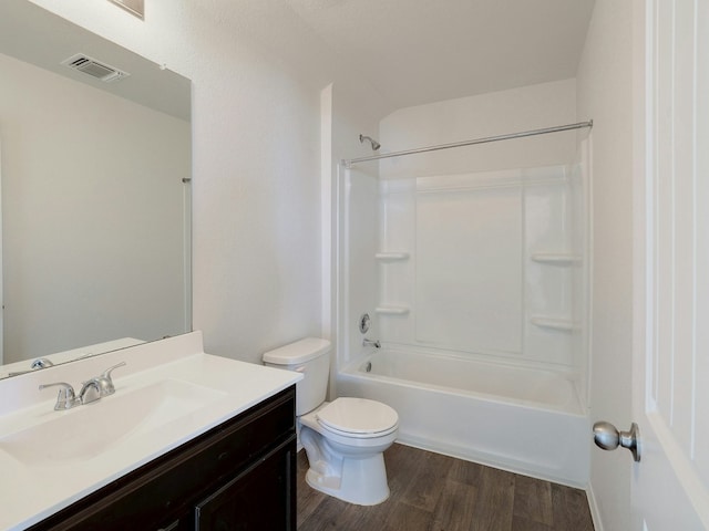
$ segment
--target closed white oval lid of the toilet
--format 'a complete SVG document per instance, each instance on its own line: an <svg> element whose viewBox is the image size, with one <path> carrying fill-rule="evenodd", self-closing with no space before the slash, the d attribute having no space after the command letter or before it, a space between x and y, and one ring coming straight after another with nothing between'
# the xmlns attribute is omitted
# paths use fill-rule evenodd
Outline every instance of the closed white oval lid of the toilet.
<svg viewBox="0 0 709 531"><path fill-rule="evenodd" d="M367 398L337 398L316 416L325 427L347 434L391 431L399 423L394 409Z"/></svg>

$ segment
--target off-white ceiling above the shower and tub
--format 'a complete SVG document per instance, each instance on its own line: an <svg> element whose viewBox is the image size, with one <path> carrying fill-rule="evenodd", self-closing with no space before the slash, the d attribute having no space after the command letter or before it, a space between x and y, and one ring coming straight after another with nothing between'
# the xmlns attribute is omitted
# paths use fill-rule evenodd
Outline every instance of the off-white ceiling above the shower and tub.
<svg viewBox="0 0 709 531"><path fill-rule="evenodd" d="M394 108L574 77L594 0L286 0Z"/></svg>

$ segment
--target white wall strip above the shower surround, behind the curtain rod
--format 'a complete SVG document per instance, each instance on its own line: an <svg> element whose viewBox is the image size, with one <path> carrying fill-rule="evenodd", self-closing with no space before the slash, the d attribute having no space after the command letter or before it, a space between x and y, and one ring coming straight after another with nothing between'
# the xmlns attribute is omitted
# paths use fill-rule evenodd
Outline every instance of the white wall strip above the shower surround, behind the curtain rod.
<svg viewBox="0 0 709 531"><path fill-rule="evenodd" d="M586 117L579 115L582 119ZM381 153L388 153L576 121L576 82L564 80L402 108L381 121L379 135ZM384 159L380 170L382 178L395 178L572 163L576 135L555 133Z"/></svg>

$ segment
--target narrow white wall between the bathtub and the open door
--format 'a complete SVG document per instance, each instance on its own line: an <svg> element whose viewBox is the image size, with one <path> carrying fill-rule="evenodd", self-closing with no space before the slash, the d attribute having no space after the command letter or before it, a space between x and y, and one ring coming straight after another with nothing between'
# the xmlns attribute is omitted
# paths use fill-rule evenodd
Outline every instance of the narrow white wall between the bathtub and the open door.
<svg viewBox="0 0 709 531"><path fill-rule="evenodd" d="M578 114L594 119L592 420L625 429L633 352L633 10L596 0L578 69ZM630 529L627 452L592 448L590 487L604 529Z"/></svg>

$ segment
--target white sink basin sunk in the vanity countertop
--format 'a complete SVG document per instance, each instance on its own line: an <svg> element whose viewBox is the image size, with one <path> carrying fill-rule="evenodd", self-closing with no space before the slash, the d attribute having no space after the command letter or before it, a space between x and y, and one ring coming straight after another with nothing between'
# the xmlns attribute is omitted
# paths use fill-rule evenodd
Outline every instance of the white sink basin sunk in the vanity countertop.
<svg viewBox="0 0 709 531"><path fill-rule="evenodd" d="M131 437L199 409L226 393L164 379L52 414L49 420L0 438L0 450L27 466L91 459ZM47 416L45 416L47 418Z"/></svg>

